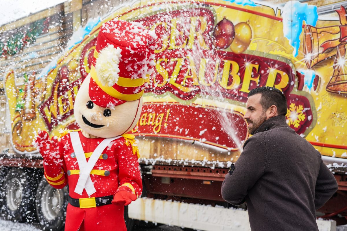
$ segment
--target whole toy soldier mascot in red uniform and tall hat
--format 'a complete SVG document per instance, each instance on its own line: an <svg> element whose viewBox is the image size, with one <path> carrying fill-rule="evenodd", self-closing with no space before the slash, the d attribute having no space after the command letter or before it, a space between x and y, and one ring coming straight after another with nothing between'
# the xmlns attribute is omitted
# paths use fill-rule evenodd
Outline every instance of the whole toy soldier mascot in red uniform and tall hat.
<svg viewBox="0 0 347 231"><path fill-rule="evenodd" d="M36 137L48 183L69 184L65 230L126 230L124 206L142 192L135 136L126 133L139 119L154 41L141 24L105 23L75 99L81 130Z"/></svg>

